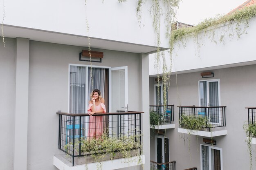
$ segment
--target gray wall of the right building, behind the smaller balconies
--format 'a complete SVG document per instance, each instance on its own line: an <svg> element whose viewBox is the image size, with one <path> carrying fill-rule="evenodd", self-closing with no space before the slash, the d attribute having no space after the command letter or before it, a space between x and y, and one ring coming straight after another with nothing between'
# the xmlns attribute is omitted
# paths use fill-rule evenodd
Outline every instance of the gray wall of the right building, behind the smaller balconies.
<svg viewBox="0 0 256 170"><path fill-rule="evenodd" d="M174 104L175 129L166 130L166 137L170 138L170 161L176 162L176 169L198 167L200 170L200 144L203 137L185 135L177 132L179 127L179 113L176 106L198 106L198 81L207 79L220 79L221 106L226 108L227 135L213 137L217 141L216 147L222 148L223 169L249 169L249 153L245 142L246 135L243 124L248 120L245 107L256 107L256 65L240 66L211 70L213 78L204 78L200 72L172 75L171 86L168 93L168 101ZM150 86L153 86L150 84ZM178 89L178 92L177 92ZM213 128L213 130L217 130ZM153 134L153 133L150 133ZM190 141L190 154L188 143ZM152 145L152 143L150 144ZM209 144L205 144L211 146ZM252 146L255 149L255 146ZM153 151L151 151L152 155ZM253 154L253 167L255 169L255 155Z"/></svg>

